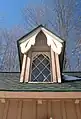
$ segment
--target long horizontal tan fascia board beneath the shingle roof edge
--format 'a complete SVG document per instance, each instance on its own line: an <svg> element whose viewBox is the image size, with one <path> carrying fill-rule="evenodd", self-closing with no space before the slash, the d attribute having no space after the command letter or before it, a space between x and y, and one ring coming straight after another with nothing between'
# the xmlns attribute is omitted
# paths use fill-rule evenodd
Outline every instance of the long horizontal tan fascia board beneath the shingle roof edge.
<svg viewBox="0 0 81 119"><path fill-rule="evenodd" d="M0 98L12 99L80 99L81 92L8 92L0 91Z"/></svg>

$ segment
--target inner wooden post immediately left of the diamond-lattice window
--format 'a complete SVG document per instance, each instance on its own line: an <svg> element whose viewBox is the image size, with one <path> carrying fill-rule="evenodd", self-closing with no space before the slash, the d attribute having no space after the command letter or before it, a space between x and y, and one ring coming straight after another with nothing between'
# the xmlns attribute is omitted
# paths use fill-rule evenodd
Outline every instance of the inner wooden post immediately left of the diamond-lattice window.
<svg viewBox="0 0 81 119"><path fill-rule="evenodd" d="M26 70L25 70L25 82L28 82L29 73L30 73L30 62L31 62L31 52L28 52Z"/></svg>

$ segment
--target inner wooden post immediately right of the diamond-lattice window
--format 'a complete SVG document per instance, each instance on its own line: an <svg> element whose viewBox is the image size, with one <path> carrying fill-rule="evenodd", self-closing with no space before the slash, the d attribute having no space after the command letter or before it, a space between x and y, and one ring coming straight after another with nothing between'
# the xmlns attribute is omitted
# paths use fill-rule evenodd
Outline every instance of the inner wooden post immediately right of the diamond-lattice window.
<svg viewBox="0 0 81 119"><path fill-rule="evenodd" d="M51 61L52 61L52 76L53 76L53 82L57 82L56 79L56 65L55 65L55 54L51 48Z"/></svg>

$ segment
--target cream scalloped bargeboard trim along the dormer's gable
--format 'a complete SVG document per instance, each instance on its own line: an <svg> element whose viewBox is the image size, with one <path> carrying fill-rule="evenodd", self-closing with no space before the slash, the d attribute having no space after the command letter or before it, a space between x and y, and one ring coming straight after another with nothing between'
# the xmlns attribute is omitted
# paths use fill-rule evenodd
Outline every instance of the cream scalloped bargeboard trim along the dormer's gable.
<svg viewBox="0 0 81 119"><path fill-rule="evenodd" d="M24 54L28 52L32 45L35 45L36 36L40 31L45 34L47 45L50 46L55 53L60 54L63 47L63 40L42 26L38 27L23 39L23 42L20 43L21 52Z"/></svg>

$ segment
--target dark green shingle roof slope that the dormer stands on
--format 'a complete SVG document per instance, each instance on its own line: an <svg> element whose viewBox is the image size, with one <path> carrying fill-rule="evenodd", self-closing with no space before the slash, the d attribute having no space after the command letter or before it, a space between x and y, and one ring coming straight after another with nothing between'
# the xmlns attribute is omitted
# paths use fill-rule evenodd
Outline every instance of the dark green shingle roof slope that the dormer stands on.
<svg viewBox="0 0 81 119"><path fill-rule="evenodd" d="M78 75L78 74L77 74ZM61 84L20 83L20 73L0 73L0 90L2 91L41 91L70 92L81 91L81 81L69 81Z"/></svg>

